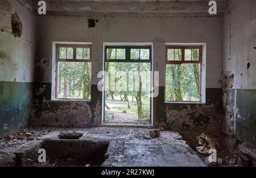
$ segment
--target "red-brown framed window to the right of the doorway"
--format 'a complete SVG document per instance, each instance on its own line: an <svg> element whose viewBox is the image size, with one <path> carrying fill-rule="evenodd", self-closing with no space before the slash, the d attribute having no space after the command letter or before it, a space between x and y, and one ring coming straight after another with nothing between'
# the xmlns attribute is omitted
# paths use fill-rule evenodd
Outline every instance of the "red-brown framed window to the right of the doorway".
<svg viewBox="0 0 256 178"><path fill-rule="evenodd" d="M166 47L166 101L201 102L202 47Z"/></svg>

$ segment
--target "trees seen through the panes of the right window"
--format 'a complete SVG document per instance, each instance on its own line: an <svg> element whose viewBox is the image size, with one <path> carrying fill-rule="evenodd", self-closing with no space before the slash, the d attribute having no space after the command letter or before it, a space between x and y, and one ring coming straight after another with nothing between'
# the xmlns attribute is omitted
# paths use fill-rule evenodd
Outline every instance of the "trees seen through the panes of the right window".
<svg viewBox="0 0 256 178"><path fill-rule="evenodd" d="M181 49L168 50L168 60L180 61ZM185 61L199 60L199 49L185 49ZM166 65L166 100L200 101L200 64Z"/></svg>

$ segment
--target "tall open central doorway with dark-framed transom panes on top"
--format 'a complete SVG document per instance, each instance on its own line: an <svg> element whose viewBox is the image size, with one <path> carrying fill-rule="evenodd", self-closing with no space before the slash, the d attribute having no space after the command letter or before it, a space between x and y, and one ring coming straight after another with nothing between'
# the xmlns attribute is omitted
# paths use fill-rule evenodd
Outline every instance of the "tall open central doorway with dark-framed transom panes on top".
<svg viewBox="0 0 256 178"><path fill-rule="evenodd" d="M105 47L105 125L150 125L151 58L151 46Z"/></svg>

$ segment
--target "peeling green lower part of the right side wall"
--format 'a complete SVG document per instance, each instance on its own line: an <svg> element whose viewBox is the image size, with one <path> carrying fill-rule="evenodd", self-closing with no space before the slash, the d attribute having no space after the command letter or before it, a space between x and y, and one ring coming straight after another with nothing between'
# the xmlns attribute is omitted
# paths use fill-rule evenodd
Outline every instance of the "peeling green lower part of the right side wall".
<svg viewBox="0 0 256 178"><path fill-rule="evenodd" d="M226 89L224 131L256 146L256 90Z"/></svg>

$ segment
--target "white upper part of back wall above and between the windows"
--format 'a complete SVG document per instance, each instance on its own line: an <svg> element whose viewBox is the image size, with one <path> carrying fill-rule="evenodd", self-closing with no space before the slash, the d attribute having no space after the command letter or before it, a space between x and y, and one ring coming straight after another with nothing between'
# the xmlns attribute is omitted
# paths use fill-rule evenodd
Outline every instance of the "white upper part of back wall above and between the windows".
<svg viewBox="0 0 256 178"><path fill-rule="evenodd" d="M103 43L154 43L154 70L159 71L160 86L164 86L165 43L207 43L206 87L220 88L222 71L221 17L185 17L94 14L98 19L88 28L86 16L39 16L38 61L48 59L49 67L36 69L38 82L51 82L52 42L92 42L92 84L102 70Z"/></svg>

